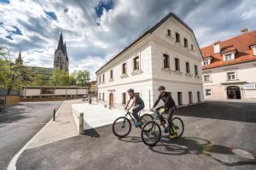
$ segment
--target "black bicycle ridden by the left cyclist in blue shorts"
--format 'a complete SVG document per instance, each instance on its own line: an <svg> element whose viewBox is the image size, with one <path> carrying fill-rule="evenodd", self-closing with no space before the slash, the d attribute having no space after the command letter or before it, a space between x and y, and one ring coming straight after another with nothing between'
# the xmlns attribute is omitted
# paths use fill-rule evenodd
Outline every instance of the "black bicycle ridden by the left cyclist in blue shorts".
<svg viewBox="0 0 256 170"><path fill-rule="evenodd" d="M140 115L141 115L141 111L139 112L139 116ZM133 122L136 122L135 118L131 116L131 112L129 110L126 112L125 116L120 116L113 122L113 126L112 126L113 134L119 138L124 138L131 132L131 121L127 118L127 116L130 116L131 120ZM153 120L154 120L153 116L149 114L144 114L143 116L140 116L140 121L142 122L142 126L146 122L151 122ZM142 128L142 126L140 126L140 128Z"/></svg>

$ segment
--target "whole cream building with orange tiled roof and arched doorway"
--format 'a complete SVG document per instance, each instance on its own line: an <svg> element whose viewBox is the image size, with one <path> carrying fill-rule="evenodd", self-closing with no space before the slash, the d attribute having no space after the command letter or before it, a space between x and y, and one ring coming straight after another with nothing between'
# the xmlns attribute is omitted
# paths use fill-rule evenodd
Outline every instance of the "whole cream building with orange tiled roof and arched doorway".
<svg viewBox="0 0 256 170"><path fill-rule="evenodd" d="M201 48L205 99L256 99L256 31Z"/></svg>

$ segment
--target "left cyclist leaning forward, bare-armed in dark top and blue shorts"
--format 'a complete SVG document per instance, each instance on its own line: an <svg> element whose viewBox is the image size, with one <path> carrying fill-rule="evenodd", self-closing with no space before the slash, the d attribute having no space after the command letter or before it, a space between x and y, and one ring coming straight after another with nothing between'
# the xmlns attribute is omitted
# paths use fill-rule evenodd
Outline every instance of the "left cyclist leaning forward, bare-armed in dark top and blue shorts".
<svg viewBox="0 0 256 170"><path fill-rule="evenodd" d="M143 110L145 105L143 102L143 99L140 98L137 94L134 94L134 89L130 88L127 90L127 93L130 96L130 99L127 102L127 105L125 106L125 110L127 109L128 105L130 104L130 101L132 99L131 106L128 110L131 109L131 107L134 105L134 108L132 109L132 115L135 117L137 122L134 122L135 127L140 127L142 125L142 122L140 120L140 117L138 116L138 112Z"/></svg>

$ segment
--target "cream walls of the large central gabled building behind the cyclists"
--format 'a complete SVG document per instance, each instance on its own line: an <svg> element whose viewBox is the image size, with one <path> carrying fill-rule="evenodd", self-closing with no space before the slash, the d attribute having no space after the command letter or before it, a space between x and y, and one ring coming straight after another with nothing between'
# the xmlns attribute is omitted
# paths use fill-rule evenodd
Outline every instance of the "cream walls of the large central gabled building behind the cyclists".
<svg viewBox="0 0 256 170"><path fill-rule="evenodd" d="M179 32L181 42L175 42L172 37L166 37L166 28ZM179 26L177 22L166 22L154 31L149 37L137 42L137 45L125 51L117 59L113 59L105 65L101 71L97 72L98 99L101 103L109 105L109 94L113 93L115 108L122 107L122 93L126 93L128 88L134 88L145 102L145 109L148 110L154 105L159 92L160 85L166 86L166 90L172 92L173 99L177 103L177 92L183 93L183 105L189 104L189 92L192 92L193 103L198 102L197 92L200 92L201 101L204 101L203 84L201 80L201 53L197 48L195 37L192 33L184 31L184 26ZM183 46L183 37L189 42L189 47ZM194 49L190 48L193 44ZM163 54L170 56L170 70L163 68ZM133 72L133 58L140 57L140 68L138 72ZM180 59L180 71L174 71L174 59ZM122 77L122 64L127 63L127 77ZM189 62L190 74L186 74L185 63ZM198 75L195 75L195 65L198 66ZM110 80L110 71L113 70L113 80ZM105 75L105 82L100 82L99 78ZM102 101L104 94L104 101ZM127 94L126 98L128 100ZM126 101L127 101L126 100ZM161 105L161 103L160 103Z"/></svg>

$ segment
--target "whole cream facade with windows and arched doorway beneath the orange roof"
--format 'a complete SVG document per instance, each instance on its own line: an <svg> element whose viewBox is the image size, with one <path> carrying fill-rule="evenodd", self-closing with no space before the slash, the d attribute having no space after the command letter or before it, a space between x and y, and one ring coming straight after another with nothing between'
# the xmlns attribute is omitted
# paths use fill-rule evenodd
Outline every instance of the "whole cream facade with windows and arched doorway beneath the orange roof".
<svg viewBox="0 0 256 170"><path fill-rule="evenodd" d="M255 74L256 61L203 70L205 99L255 100Z"/></svg>

